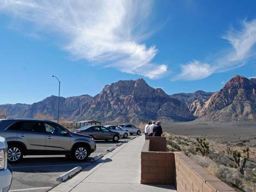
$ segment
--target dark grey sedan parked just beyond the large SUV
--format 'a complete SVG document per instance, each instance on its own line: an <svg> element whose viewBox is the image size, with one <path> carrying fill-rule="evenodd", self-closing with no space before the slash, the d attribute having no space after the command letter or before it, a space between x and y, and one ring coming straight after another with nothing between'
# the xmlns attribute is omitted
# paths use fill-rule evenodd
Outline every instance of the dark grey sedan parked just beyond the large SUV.
<svg viewBox="0 0 256 192"><path fill-rule="evenodd" d="M118 132L113 132L106 127L97 125L88 125L78 128L73 131L74 133L86 134L93 137L95 140L113 140L118 141L122 135Z"/></svg>

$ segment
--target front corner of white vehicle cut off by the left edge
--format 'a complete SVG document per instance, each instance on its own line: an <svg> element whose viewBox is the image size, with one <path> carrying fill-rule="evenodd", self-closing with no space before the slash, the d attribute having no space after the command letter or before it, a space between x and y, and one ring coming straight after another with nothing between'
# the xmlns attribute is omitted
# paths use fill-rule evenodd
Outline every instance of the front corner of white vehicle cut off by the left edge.
<svg viewBox="0 0 256 192"><path fill-rule="evenodd" d="M11 186L13 171L7 164L7 142L3 137L0 137L0 191L7 192Z"/></svg>

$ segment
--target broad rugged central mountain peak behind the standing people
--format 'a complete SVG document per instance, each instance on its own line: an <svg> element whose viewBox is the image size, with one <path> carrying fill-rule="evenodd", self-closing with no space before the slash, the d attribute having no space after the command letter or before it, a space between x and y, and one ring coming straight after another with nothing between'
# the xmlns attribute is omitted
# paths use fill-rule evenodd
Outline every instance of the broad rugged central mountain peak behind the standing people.
<svg viewBox="0 0 256 192"><path fill-rule="evenodd" d="M162 89L151 88L144 79L122 80L106 85L81 117L92 118L114 122L194 119L184 103L170 97Z"/></svg>

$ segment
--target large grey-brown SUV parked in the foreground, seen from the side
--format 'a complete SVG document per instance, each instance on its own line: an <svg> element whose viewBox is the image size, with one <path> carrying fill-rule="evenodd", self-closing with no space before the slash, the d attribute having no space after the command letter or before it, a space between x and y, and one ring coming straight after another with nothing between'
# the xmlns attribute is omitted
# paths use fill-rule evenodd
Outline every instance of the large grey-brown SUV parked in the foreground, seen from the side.
<svg viewBox="0 0 256 192"><path fill-rule="evenodd" d="M83 161L96 150L92 137L72 133L48 120L3 119L0 120L0 135L7 140L10 163L35 154L65 154Z"/></svg>

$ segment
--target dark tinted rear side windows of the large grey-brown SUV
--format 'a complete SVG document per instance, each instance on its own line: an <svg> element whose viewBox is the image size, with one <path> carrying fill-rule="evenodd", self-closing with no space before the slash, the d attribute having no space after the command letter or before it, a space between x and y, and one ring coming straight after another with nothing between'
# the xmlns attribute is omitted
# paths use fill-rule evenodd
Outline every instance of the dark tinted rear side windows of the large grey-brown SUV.
<svg viewBox="0 0 256 192"><path fill-rule="evenodd" d="M45 126L42 122L37 121L20 121L11 125L9 130L16 130L16 131L27 131L27 132L45 132Z"/></svg>

